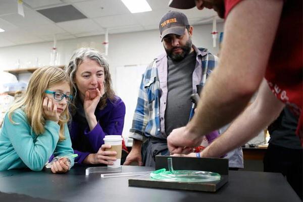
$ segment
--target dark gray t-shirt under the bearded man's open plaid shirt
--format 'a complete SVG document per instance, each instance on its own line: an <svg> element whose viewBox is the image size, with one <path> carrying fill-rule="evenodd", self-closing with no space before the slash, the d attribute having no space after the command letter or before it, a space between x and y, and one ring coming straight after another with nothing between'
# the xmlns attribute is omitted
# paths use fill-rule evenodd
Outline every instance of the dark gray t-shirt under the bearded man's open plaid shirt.
<svg viewBox="0 0 303 202"><path fill-rule="evenodd" d="M193 51L182 61L175 62L168 57L167 104L165 110L165 133L185 126L189 119L192 94L192 73L196 64Z"/></svg>

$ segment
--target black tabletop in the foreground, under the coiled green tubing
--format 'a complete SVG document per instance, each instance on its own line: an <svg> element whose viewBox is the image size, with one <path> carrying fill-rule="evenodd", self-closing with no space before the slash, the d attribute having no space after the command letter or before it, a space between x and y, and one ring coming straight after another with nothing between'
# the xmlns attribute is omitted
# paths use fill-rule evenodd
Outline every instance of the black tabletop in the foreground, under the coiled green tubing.
<svg viewBox="0 0 303 202"><path fill-rule="evenodd" d="M86 167L67 174L9 170L0 172L0 201L300 201L278 173L230 171L229 181L215 193L129 187L133 177L85 176ZM152 167L122 166L122 172L152 171ZM20 195L21 194L21 195Z"/></svg>

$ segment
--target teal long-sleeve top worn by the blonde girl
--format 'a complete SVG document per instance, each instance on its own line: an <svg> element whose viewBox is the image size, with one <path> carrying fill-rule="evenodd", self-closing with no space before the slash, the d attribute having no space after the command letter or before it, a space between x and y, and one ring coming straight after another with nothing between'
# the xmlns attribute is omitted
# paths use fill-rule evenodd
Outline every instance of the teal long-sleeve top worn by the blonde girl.
<svg viewBox="0 0 303 202"><path fill-rule="evenodd" d="M0 171L15 168L43 169L49 157L62 157L74 153L67 124L64 126L65 140L59 141L60 126L54 121L46 121L42 134L31 130L26 114L16 110L12 116L5 116L0 131ZM71 159L71 166L74 160Z"/></svg>

